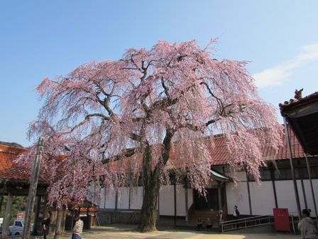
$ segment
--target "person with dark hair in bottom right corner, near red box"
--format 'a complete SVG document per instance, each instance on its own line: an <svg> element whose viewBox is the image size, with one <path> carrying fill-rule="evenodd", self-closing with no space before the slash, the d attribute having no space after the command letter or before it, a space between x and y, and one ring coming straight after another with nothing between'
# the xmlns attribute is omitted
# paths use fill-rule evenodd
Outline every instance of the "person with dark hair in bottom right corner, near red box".
<svg viewBox="0 0 318 239"><path fill-rule="evenodd" d="M317 228L310 218L308 209L302 210L302 220L298 223L298 229L302 233L302 239L318 239Z"/></svg>

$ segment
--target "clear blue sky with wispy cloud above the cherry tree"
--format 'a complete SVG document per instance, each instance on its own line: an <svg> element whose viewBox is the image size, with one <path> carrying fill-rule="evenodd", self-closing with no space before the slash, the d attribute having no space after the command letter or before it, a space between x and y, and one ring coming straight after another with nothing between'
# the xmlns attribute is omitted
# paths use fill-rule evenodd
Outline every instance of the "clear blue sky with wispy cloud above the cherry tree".
<svg viewBox="0 0 318 239"><path fill-rule="evenodd" d="M0 1L0 141L23 146L38 115L35 87L91 60L158 40L219 38L216 58L250 60L275 107L318 90L318 1Z"/></svg>

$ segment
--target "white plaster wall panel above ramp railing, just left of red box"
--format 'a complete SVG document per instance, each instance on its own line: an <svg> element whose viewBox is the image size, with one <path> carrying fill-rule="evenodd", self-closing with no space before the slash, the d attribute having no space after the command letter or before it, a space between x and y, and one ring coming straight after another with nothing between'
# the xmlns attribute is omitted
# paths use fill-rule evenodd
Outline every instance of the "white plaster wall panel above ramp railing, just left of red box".
<svg viewBox="0 0 318 239"><path fill-rule="evenodd" d="M250 182L251 207L253 215L273 214L275 196L272 181L262 181L261 185Z"/></svg>

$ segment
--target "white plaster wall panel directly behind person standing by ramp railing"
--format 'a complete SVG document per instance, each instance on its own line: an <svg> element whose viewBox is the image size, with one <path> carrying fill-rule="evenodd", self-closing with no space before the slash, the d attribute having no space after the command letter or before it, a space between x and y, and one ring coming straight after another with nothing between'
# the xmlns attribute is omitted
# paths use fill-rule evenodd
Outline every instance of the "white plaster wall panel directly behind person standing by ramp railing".
<svg viewBox="0 0 318 239"><path fill-rule="evenodd" d="M233 207L238 206L241 214L250 214L248 206L248 191L246 182L239 182L237 188L233 183L226 184L227 211L232 214Z"/></svg>

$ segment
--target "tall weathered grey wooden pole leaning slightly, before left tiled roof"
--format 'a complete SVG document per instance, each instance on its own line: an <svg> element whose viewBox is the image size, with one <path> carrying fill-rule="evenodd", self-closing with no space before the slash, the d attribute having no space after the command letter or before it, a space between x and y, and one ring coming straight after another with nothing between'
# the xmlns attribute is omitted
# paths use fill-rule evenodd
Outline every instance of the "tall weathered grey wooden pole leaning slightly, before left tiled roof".
<svg viewBox="0 0 318 239"><path fill-rule="evenodd" d="M30 227L31 227L31 218L33 213L36 188L38 187L38 175L40 174L40 164L42 160L42 151L43 151L43 141L44 138L40 137L38 139L38 148L36 149L36 156L33 167L32 180L30 188L28 191L28 205L26 207L26 221L23 227L23 239L30 238Z"/></svg>

